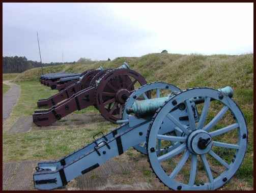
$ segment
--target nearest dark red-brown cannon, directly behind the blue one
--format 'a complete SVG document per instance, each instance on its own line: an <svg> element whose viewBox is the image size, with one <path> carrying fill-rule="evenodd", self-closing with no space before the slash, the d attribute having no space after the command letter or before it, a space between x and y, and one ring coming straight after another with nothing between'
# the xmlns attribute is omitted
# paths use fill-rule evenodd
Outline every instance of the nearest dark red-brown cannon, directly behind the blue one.
<svg viewBox="0 0 256 193"><path fill-rule="evenodd" d="M81 84L69 86L61 91L60 93L63 95L66 94L65 98L69 98L59 104L54 102L55 106L49 110L35 111L33 121L38 126L48 126L76 110L93 105L105 119L116 123L117 120L122 119L126 99L135 87L146 83L143 76L130 69L101 71L94 76L89 87L81 89L73 95L69 95L68 90L79 90Z"/></svg>

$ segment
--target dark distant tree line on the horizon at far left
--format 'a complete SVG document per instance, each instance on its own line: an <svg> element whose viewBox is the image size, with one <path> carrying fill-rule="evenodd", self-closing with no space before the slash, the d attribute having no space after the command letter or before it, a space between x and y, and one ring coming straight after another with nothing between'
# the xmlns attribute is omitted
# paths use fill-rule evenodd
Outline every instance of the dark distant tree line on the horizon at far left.
<svg viewBox="0 0 256 193"><path fill-rule="evenodd" d="M72 64L74 62L64 62ZM53 66L53 65L62 65L62 62L50 62L42 63L43 67ZM41 63L38 61L27 60L25 56L5 56L3 57L3 73L21 73L26 70L41 67Z"/></svg>

